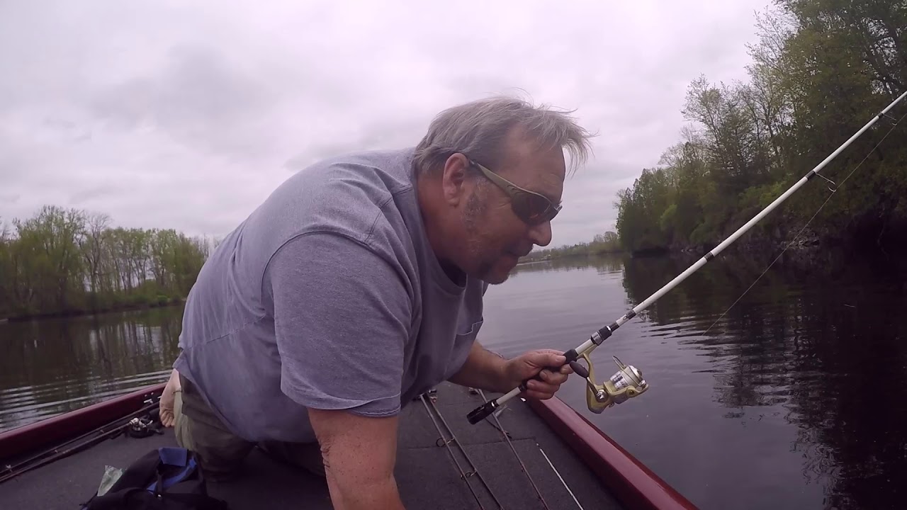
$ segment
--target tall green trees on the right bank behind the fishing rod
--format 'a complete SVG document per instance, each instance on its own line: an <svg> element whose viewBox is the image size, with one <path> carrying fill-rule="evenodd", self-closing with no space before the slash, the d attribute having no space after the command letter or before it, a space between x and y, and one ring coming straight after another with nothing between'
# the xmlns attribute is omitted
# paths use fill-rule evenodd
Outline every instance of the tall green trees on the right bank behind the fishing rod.
<svg viewBox="0 0 907 510"><path fill-rule="evenodd" d="M907 4L894 0L778 0L757 16L746 83L690 83L691 123L658 165L618 193L620 244L631 251L705 249L765 208L907 86ZM902 102L822 175L738 244L774 250L793 239L907 113ZM805 230L817 243L903 242L907 126L894 131ZM893 244L892 242L892 244Z"/></svg>

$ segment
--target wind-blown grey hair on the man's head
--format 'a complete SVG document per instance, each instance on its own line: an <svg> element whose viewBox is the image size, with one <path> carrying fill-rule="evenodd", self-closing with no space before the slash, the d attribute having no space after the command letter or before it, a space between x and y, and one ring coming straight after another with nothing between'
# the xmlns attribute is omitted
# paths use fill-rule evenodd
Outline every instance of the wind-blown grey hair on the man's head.
<svg viewBox="0 0 907 510"><path fill-rule="evenodd" d="M569 115L546 105L509 96L496 96L463 103L438 113L415 147L418 172L440 172L454 152L463 152L494 169L502 158L502 142L511 128L518 127L542 148L561 147L570 154L574 169L586 161L591 135Z"/></svg>

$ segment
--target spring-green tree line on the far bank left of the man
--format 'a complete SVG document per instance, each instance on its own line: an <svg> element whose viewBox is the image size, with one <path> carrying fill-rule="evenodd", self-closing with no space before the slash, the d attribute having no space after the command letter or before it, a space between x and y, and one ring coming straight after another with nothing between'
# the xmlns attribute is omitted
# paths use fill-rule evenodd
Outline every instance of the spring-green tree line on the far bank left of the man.
<svg viewBox="0 0 907 510"><path fill-rule="evenodd" d="M162 306L189 294L212 243L47 205L0 222L0 318Z"/></svg>

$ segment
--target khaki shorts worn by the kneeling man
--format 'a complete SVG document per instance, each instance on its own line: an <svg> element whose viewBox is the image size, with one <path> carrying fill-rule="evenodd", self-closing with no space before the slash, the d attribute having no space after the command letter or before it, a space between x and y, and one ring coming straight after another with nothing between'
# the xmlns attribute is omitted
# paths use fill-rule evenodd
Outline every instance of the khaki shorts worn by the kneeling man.
<svg viewBox="0 0 907 510"><path fill-rule="evenodd" d="M199 456L205 476L214 480L228 480L239 475L243 460L255 446L278 460L303 467L314 475L325 476L321 449L317 443L251 443L229 432L192 387L192 383L182 375L180 387L174 396L174 434L177 444Z"/></svg>

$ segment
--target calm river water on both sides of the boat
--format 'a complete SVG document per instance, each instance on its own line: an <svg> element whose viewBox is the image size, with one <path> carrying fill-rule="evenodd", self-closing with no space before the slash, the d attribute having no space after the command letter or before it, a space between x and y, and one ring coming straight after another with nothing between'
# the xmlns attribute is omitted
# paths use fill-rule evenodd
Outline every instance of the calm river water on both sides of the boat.
<svg viewBox="0 0 907 510"><path fill-rule="evenodd" d="M480 338L575 348L688 263L521 266L489 289ZM763 268L714 260L593 352L598 378L611 356L640 368L643 395L600 415L578 377L558 396L704 510L905 507L907 288L869 264L773 269L741 298ZM165 380L180 313L0 324L0 430Z"/></svg>

